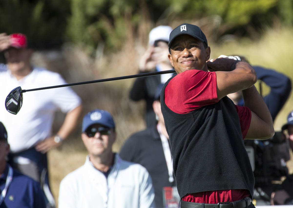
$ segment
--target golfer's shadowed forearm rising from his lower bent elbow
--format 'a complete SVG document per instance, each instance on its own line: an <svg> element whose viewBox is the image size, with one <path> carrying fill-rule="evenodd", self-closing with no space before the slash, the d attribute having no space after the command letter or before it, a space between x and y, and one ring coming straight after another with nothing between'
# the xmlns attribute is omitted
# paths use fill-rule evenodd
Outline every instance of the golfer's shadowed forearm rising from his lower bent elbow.
<svg viewBox="0 0 293 208"><path fill-rule="evenodd" d="M243 90L242 94L244 105L249 107L252 112L265 122L268 132L274 131L270 111L255 86Z"/></svg>

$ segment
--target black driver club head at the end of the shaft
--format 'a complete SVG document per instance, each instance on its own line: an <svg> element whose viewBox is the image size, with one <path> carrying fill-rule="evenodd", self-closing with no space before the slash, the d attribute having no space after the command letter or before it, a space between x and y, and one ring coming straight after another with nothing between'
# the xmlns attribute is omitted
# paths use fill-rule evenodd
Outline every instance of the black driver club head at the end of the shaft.
<svg viewBox="0 0 293 208"><path fill-rule="evenodd" d="M5 108L9 113L16 115L21 109L22 101L21 87L16 87L7 95L5 99Z"/></svg>

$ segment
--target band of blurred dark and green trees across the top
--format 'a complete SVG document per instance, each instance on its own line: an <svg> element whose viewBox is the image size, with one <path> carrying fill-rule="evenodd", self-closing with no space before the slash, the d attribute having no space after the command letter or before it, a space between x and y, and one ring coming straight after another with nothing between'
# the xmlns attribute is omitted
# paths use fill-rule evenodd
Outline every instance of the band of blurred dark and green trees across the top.
<svg viewBox="0 0 293 208"><path fill-rule="evenodd" d="M250 35L276 20L293 24L292 0L1 0L0 31L23 32L33 45L64 41L118 50L158 24L219 17L217 33ZM139 33L140 32L140 33ZM145 37L145 36L144 36Z"/></svg>

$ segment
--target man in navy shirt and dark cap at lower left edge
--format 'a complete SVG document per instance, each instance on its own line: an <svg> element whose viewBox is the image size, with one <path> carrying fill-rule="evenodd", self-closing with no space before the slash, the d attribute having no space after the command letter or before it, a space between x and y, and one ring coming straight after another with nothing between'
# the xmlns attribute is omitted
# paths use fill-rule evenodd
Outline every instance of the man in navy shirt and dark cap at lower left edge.
<svg viewBox="0 0 293 208"><path fill-rule="evenodd" d="M7 131L0 122L0 207L46 207L40 183L11 168L6 162L9 153Z"/></svg>

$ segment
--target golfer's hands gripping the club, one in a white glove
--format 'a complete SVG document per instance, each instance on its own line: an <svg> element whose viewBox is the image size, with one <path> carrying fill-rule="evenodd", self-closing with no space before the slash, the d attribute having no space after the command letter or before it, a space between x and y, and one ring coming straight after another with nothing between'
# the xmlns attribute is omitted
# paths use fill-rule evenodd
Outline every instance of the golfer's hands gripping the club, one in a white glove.
<svg viewBox="0 0 293 208"><path fill-rule="evenodd" d="M216 71L232 71L235 69L237 62L241 61L238 56L220 55L216 59L207 61L207 68L211 72Z"/></svg>

